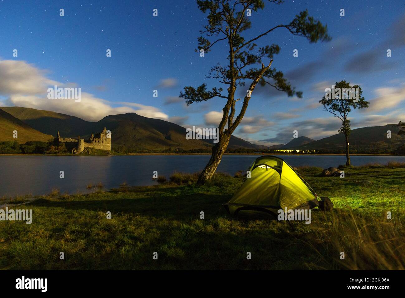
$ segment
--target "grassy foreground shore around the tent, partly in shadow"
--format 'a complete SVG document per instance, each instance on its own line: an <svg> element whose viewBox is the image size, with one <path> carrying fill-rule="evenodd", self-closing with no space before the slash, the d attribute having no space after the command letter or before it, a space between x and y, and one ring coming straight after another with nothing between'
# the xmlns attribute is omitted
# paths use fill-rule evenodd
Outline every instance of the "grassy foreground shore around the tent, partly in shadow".
<svg viewBox="0 0 405 298"><path fill-rule="evenodd" d="M14 207L32 209L32 224L0 221L0 269L405 269L405 168L344 171L298 168L335 205L311 224L230 217L221 205L242 178L223 174L204 187L175 174L155 187L54 191Z"/></svg>

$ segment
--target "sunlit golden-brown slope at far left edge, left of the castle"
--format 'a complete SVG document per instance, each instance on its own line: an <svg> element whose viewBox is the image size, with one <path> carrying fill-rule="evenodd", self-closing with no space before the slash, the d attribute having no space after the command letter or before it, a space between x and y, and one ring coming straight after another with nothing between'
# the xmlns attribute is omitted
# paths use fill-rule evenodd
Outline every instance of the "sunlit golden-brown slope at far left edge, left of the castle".
<svg viewBox="0 0 405 298"><path fill-rule="evenodd" d="M13 138L13 131L17 131L17 138ZM28 124L15 118L13 115L0 109L0 141L47 141L53 138L51 135L41 133Z"/></svg>

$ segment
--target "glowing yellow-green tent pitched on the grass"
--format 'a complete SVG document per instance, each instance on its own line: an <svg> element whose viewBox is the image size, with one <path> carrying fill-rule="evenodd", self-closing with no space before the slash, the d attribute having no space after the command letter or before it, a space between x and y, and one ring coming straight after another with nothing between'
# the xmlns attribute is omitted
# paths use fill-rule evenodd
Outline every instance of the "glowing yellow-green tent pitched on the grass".
<svg viewBox="0 0 405 298"><path fill-rule="evenodd" d="M271 155L257 158L247 178L224 207L232 215L268 215L277 211L311 209L318 206L318 195L283 159Z"/></svg>

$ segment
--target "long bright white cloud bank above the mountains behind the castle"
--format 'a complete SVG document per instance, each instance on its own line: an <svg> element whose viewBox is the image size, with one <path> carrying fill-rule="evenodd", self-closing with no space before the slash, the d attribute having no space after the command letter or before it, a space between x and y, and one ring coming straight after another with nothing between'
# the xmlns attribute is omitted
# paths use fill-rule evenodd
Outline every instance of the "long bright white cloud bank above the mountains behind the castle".
<svg viewBox="0 0 405 298"><path fill-rule="evenodd" d="M88 121L98 121L108 115L130 112L145 117L168 119L168 116L156 107L125 102L118 103L122 106L113 107L109 101L83 90L80 102L75 102L74 99L48 99L49 87L57 85L63 88L77 84L53 81L45 77L46 73L25 61L0 60L0 94L6 96L4 104L51 110Z"/></svg>

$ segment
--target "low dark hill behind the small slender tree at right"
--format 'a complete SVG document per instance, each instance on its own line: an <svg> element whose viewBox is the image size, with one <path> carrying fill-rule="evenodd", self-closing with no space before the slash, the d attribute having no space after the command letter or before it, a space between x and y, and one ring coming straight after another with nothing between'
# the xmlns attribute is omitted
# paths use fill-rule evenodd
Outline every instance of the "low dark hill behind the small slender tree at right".
<svg viewBox="0 0 405 298"><path fill-rule="evenodd" d="M391 131L390 138L387 137L387 131ZM399 127L395 124L353 129L349 136L350 150L361 152L395 151L396 148L405 144L405 136L397 135L398 131ZM343 150L345 149L345 136L338 133L305 144L298 149Z"/></svg>

